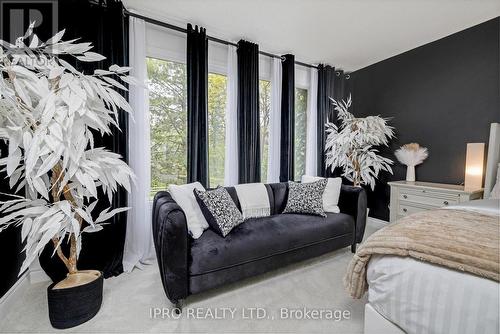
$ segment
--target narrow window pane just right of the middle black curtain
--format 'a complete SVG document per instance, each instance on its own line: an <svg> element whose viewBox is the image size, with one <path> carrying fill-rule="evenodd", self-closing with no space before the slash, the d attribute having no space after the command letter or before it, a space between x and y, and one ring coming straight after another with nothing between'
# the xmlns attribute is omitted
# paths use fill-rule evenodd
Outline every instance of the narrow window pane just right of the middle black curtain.
<svg viewBox="0 0 500 334"><path fill-rule="evenodd" d="M260 109L260 180L267 182L269 152L269 115L271 114L271 82L259 81Z"/></svg>

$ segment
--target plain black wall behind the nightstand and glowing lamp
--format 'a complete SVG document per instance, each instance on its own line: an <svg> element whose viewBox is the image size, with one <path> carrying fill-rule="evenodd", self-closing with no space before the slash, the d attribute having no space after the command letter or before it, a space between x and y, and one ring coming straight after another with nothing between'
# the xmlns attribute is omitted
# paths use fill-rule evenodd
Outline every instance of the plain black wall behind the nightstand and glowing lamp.
<svg viewBox="0 0 500 334"><path fill-rule="evenodd" d="M391 117L397 138L385 156L417 142L429 158L418 181L461 184L468 142L488 142L489 124L500 122L500 18L383 60L351 74L356 116ZM388 220L389 180L404 180L406 167L380 176L369 193L370 216Z"/></svg>

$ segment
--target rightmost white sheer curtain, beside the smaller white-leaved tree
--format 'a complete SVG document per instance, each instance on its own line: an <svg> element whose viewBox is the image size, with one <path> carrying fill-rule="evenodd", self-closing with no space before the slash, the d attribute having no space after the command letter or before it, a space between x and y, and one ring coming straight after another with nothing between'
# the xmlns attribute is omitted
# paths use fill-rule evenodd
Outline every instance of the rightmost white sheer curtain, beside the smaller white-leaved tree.
<svg viewBox="0 0 500 334"><path fill-rule="evenodd" d="M311 68L309 77L311 82L307 92L306 175L315 176L318 163L318 70Z"/></svg>

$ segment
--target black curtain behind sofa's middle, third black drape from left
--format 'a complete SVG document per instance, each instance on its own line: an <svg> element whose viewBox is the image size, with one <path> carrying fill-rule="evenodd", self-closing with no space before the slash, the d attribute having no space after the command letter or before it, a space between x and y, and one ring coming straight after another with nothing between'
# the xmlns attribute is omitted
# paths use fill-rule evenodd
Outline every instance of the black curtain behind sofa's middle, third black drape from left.
<svg viewBox="0 0 500 334"><path fill-rule="evenodd" d="M259 46L238 42L238 180L260 182Z"/></svg>

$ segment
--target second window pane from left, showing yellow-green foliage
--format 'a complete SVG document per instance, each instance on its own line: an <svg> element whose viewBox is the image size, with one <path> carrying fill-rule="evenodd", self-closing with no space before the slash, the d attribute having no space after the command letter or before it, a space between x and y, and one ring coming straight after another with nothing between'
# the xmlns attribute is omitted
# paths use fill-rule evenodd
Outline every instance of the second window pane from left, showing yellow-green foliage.
<svg viewBox="0 0 500 334"><path fill-rule="evenodd" d="M208 74L208 175L210 187L224 184L227 77Z"/></svg>

